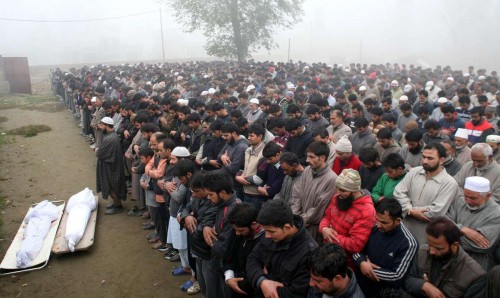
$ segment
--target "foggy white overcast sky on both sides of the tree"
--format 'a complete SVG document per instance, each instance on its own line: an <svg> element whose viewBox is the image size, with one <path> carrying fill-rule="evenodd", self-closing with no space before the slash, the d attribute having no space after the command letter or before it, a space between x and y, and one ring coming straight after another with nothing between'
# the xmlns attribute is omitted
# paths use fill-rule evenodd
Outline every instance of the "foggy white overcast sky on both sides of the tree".
<svg viewBox="0 0 500 298"><path fill-rule="evenodd" d="M71 20L130 15L154 0L2 0L0 18ZM200 33L188 34L164 7L166 59L207 59ZM306 0L303 22L278 32L278 49L254 55L286 61L414 63L500 70L498 0ZM31 65L161 61L159 13L85 23L0 20L0 55Z"/></svg>

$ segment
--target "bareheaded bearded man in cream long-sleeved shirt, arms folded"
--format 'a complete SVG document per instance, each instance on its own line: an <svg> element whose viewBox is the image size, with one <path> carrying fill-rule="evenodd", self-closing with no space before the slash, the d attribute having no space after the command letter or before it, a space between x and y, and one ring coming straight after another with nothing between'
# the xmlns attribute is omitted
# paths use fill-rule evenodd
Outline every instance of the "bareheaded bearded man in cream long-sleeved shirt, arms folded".
<svg viewBox="0 0 500 298"><path fill-rule="evenodd" d="M403 207L404 224L420 244L427 243L425 225L443 216L458 193L457 182L442 167L446 149L426 145L422 166L411 169L394 189L394 198Z"/></svg>

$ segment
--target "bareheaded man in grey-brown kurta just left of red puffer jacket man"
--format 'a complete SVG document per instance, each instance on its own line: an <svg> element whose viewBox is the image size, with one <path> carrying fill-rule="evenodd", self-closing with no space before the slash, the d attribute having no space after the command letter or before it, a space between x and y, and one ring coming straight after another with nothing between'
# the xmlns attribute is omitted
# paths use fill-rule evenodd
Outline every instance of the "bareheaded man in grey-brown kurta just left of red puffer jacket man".
<svg viewBox="0 0 500 298"><path fill-rule="evenodd" d="M326 164L328 145L313 142L306 152L309 166L293 185L291 206L293 214L302 217L313 238L320 240L318 224L335 193L337 175Z"/></svg>

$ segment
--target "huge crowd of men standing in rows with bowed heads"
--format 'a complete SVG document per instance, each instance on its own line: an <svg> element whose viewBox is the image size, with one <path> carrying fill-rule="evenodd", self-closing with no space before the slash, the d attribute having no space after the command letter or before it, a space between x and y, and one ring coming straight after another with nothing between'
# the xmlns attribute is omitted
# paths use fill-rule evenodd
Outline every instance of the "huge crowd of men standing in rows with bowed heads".
<svg viewBox="0 0 500 298"><path fill-rule="evenodd" d="M131 197L188 294L500 297L494 71L251 61L51 77L95 150L105 214Z"/></svg>

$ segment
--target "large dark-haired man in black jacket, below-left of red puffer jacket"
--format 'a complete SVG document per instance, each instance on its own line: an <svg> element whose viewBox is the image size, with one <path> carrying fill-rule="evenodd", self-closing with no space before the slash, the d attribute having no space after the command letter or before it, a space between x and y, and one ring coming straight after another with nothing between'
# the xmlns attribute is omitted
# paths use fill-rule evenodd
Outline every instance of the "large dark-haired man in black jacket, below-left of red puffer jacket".
<svg viewBox="0 0 500 298"><path fill-rule="evenodd" d="M266 202L257 217L265 230L247 259L247 276L256 297L306 297L309 290L307 260L318 244L304 221L282 200Z"/></svg>

